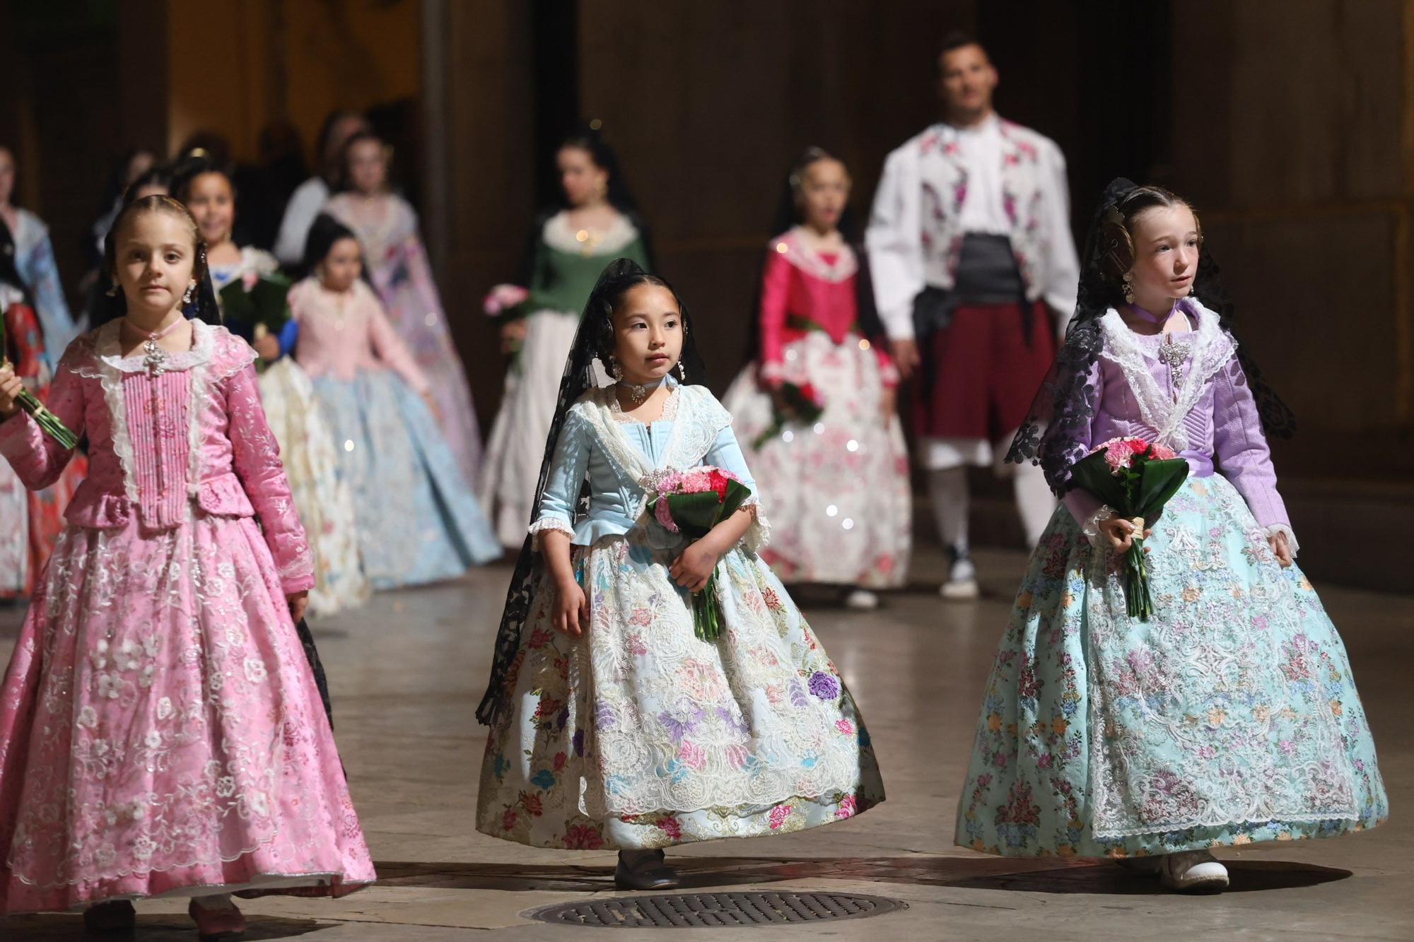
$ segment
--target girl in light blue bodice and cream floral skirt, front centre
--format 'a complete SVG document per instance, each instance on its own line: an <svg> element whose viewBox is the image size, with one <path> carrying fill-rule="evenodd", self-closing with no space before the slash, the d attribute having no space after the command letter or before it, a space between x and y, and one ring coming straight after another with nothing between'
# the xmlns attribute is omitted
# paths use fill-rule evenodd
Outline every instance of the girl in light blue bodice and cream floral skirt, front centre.
<svg viewBox="0 0 1414 942"><path fill-rule="evenodd" d="M755 491L731 416L687 385L703 375L690 325L626 259L594 289L478 711L491 735L477 827L619 849L628 888L676 885L663 847L814 827L884 799L854 700L756 556L759 495L691 543L648 513L667 470L720 467ZM594 386L594 359L618 382ZM724 629L708 642L690 595L713 573Z"/></svg>

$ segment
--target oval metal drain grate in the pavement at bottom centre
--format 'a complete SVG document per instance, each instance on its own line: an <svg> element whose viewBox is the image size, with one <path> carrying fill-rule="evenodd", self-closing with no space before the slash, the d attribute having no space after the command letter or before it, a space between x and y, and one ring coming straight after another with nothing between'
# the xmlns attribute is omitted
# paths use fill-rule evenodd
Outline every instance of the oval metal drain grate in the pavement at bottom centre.
<svg viewBox="0 0 1414 942"><path fill-rule="evenodd" d="M525 917L554 925L691 929L860 919L906 908L902 900L840 892L673 892L566 902Z"/></svg>

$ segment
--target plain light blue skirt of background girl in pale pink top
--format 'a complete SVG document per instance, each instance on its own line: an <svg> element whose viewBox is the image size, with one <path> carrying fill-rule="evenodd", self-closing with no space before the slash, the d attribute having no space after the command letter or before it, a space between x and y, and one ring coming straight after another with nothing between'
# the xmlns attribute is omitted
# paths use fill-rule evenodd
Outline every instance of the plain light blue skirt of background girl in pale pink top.
<svg viewBox="0 0 1414 942"><path fill-rule="evenodd" d="M325 375L314 389L342 443L339 479L359 508L359 549L373 588L457 578L501 556L431 412L397 373Z"/></svg>

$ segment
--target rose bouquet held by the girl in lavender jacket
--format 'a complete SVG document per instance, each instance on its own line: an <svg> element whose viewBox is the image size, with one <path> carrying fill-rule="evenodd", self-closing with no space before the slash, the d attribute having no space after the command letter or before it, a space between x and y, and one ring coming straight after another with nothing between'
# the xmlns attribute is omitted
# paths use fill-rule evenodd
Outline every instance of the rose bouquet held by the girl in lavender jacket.
<svg viewBox="0 0 1414 942"><path fill-rule="evenodd" d="M1148 621L1154 614L1144 529L1158 519L1168 499L1188 478L1188 461L1172 448L1144 438L1110 438L1070 465L1070 482L1100 498L1134 525L1124 553L1124 603L1130 618Z"/></svg>

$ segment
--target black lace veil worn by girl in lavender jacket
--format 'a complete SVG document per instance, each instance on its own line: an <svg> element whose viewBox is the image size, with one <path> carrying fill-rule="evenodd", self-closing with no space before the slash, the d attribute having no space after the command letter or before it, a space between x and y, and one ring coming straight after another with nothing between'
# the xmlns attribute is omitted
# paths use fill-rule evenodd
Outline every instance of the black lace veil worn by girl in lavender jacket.
<svg viewBox="0 0 1414 942"><path fill-rule="evenodd" d="M1085 239L1075 317L1066 330L1065 344L1031 402L1031 412L1012 438L1011 450L1007 451L1007 461L1039 464L1046 475L1046 484L1056 495L1065 494L1069 487L1070 465L1085 457L1089 447L1087 431L1099 407L1099 390L1090 380L1090 372L1104 347L1100 318L1109 308L1117 308L1124 303L1120 286L1104 277L1104 257L1113 250L1113 246L1107 245L1106 221L1134 190L1137 185L1123 177L1110 181L1104 188ZM1199 249L1193 296L1203 307L1217 313L1225 331L1233 332L1234 307L1223 290L1217 262L1213 260L1206 243ZM1297 427L1291 409L1267 385L1257 364L1241 344L1237 345L1237 361L1247 375L1247 383L1257 402L1263 431L1268 437L1290 438Z"/></svg>

